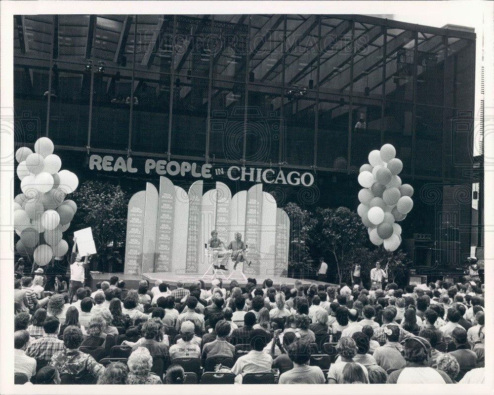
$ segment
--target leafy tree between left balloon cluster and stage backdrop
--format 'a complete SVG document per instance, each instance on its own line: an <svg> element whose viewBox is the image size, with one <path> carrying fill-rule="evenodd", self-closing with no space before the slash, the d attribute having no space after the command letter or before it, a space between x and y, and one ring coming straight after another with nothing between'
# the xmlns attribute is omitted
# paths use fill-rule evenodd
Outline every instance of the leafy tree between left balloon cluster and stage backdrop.
<svg viewBox="0 0 494 395"><path fill-rule="evenodd" d="M103 253L111 242L124 243L129 199L120 185L85 181L72 199L78 207L76 224L92 228L96 250Z"/></svg>

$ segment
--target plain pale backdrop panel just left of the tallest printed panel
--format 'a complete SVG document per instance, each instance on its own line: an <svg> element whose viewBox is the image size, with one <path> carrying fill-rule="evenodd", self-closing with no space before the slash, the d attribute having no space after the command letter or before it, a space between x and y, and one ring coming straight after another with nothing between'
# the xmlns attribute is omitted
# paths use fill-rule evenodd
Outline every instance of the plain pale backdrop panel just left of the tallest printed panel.
<svg viewBox="0 0 494 395"><path fill-rule="evenodd" d="M156 257L156 224L158 222L158 190L146 182L146 210L144 212L144 236L141 273L154 271Z"/></svg>

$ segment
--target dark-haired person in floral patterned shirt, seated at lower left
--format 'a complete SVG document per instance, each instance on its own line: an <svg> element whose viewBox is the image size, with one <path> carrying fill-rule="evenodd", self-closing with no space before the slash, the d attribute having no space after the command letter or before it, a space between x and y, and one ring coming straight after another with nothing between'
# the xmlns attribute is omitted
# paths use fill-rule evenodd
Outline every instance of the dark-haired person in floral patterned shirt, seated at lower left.
<svg viewBox="0 0 494 395"><path fill-rule="evenodd" d="M50 365L58 368L62 374L70 374L76 380L84 375L99 376L103 374L105 368L91 357L82 353L79 347L82 343L82 331L77 326L67 326L63 333L65 350L53 354L49 362Z"/></svg>

